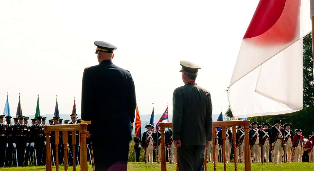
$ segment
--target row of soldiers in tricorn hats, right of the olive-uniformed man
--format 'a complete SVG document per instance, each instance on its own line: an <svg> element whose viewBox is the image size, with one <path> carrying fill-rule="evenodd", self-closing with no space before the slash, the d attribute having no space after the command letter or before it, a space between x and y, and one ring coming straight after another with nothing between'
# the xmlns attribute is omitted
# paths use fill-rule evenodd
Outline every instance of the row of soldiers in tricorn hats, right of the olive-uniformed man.
<svg viewBox="0 0 314 171"><path fill-rule="evenodd" d="M269 123L263 123L259 125L258 122L252 122L249 126L249 143L250 151L253 163L269 162L269 153L271 154L272 161L275 164L282 164L282 162L291 163L302 162L302 156L304 148L308 149L309 156L313 154L313 135L308 136L309 141L304 143L304 136L302 135L301 129L290 130L292 127L291 123L285 123L284 126L282 120L276 120L274 126L271 127ZM259 125L259 126L258 126ZM219 150L222 149L222 130L217 131L216 127L216 138L215 138L215 154L216 162L218 162ZM241 126L236 127L236 154L238 156L237 162L244 161L244 147L245 147L245 133ZM293 133L295 132L295 133ZM218 144L217 144L218 140ZM230 152L234 146L232 137L232 131L230 127L226 127L226 163L230 163ZM313 158L310 159L310 162ZM213 144L210 144L207 148L207 161L213 162Z"/></svg>

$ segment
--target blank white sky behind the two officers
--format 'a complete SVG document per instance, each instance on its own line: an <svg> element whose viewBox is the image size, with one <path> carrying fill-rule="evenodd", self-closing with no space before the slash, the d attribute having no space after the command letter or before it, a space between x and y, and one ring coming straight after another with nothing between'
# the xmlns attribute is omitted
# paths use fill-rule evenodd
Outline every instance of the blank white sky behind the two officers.
<svg viewBox="0 0 314 171"><path fill-rule="evenodd" d="M162 114L183 85L181 60L202 67L197 83L212 95L213 114L228 108L225 89L258 0L1 1L0 112L81 113L85 67L97 65L94 41L118 47L113 63L131 72L140 114ZM115 86L115 85L112 85ZM110 98L110 97L103 97Z"/></svg>

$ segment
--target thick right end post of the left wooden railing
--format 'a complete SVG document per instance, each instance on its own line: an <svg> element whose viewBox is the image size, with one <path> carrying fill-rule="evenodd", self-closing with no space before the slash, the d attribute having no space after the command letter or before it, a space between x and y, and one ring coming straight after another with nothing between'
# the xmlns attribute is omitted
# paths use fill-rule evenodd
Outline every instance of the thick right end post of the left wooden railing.
<svg viewBox="0 0 314 171"><path fill-rule="evenodd" d="M80 124L81 127L81 170L87 170L87 149L86 149L86 124Z"/></svg>

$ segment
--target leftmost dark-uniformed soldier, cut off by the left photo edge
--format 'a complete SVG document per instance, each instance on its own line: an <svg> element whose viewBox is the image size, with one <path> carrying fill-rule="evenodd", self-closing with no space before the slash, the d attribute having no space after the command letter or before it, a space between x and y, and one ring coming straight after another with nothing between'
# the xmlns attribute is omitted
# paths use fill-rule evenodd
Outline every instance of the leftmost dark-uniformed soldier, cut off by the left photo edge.
<svg viewBox="0 0 314 171"><path fill-rule="evenodd" d="M4 124L4 115L0 115L0 167L5 165L5 152L8 147L8 125Z"/></svg>

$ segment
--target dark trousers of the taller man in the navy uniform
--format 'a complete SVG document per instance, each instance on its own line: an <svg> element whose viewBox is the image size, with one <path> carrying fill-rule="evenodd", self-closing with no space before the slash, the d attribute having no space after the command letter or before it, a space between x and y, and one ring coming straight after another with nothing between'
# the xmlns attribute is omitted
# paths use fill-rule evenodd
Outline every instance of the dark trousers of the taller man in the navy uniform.
<svg viewBox="0 0 314 171"><path fill-rule="evenodd" d="M93 170L126 171L129 143L129 140L92 142Z"/></svg>

